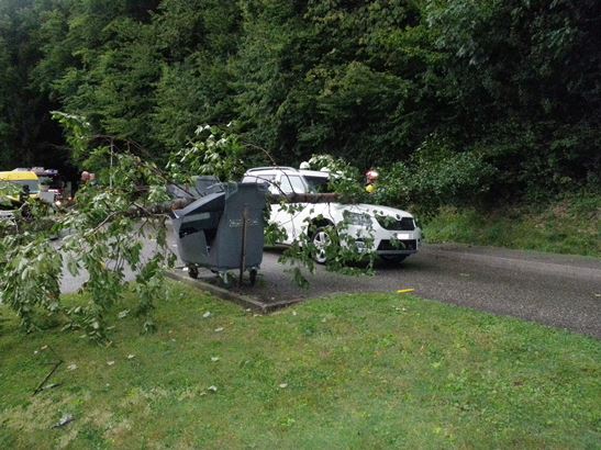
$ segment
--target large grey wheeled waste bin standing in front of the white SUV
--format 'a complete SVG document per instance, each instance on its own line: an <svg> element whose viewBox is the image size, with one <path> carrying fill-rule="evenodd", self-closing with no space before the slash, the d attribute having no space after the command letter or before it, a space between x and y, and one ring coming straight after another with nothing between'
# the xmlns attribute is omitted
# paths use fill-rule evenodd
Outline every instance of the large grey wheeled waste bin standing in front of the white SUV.
<svg viewBox="0 0 601 450"><path fill-rule="evenodd" d="M216 272L227 283L227 271L249 271L254 284L263 261L265 196L257 183L224 183L182 210L174 211L174 230L181 260L190 277L198 267Z"/></svg>

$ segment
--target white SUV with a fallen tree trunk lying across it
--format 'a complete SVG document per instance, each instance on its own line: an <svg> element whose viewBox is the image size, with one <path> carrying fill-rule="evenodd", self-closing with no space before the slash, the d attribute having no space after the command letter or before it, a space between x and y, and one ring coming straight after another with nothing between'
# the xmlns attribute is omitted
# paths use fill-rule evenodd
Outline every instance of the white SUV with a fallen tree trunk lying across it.
<svg viewBox="0 0 601 450"><path fill-rule="evenodd" d="M242 182L268 183L275 195L311 193L312 188L326 183L327 172L297 170L291 167L260 167L247 170ZM325 248L330 244L327 226L347 224L358 252L366 251L365 243L372 241L378 256L390 262L400 262L418 252L422 230L413 216L402 210L371 204L299 203L300 209L289 212L279 204L271 205L270 221L282 226L287 238L280 244L291 245L301 234L311 233L318 251L315 261L326 262ZM310 225L313 225L311 228ZM311 229L311 232L310 232ZM365 240L364 240L365 239Z"/></svg>

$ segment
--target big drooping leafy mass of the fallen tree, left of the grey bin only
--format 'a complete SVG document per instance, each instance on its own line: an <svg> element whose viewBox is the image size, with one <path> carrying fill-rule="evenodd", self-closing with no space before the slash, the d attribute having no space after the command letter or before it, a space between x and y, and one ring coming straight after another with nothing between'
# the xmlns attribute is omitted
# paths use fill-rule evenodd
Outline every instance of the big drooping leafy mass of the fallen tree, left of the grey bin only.
<svg viewBox="0 0 601 450"><path fill-rule="evenodd" d="M84 119L55 115L69 133L75 155L103 161L108 169L99 173L98 183L78 191L74 207L52 215L52 229L40 228L48 220L48 207L35 200L25 203L25 227L0 240L2 301L19 314L26 330L46 312L66 316L65 328L82 329L89 338L108 342L105 317L121 301L130 269L137 272L137 312L144 317L144 328L152 330L153 302L162 295L164 269L174 261L165 238L167 217L151 211L168 200L166 180L156 166L126 150L115 147L114 155L109 155L105 147L90 146L93 139ZM55 245L49 239L57 235L64 238ZM156 248L143 259L142 238L146 236L156 237ZM82 270L88 274L82 288L88 304L68 307L62 303L64 263L73 274Z"/></svg>

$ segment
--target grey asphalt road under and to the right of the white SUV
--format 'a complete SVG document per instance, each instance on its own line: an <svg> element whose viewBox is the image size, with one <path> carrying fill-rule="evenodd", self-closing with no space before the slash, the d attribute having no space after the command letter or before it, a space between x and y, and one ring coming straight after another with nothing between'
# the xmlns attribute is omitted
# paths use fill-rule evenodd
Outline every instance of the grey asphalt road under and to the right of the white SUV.
<svg viewBox="0 0 601 450"><path fill-rule="evenodd" d="M246 294L275 302L414 289L423 299L601 338L601 259L426 245L401 265L378 263L374 277L342 275L319 267L315 274L308 274L309 289L300 289L285 272L286 267L277 262L281 251L265 251L258 282L254 288L245 286ZM201 271L201 277L214 275ZM66 274L63 291L77 290L85 279L85 274L77 279Z"/></svg>

